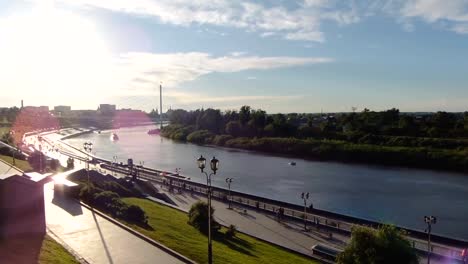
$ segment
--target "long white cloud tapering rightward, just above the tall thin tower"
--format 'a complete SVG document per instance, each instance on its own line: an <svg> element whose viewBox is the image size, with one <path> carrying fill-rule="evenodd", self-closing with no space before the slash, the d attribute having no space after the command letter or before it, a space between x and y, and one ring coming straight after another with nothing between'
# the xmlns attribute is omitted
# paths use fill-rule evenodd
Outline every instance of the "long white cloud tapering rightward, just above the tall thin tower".
<svg viewBox="0 0 468 264"><path fill-rule="evenodd" d="M213 72L230 73L245 70L276 68L328 63L333 60L321 57L258 57L239 54L214 57L207 53L126 53L119 58L117 76L126 78L130 87L151 87L163 80L167 86L192 81ZM125 77L126 76L126 77Z"/></svg>

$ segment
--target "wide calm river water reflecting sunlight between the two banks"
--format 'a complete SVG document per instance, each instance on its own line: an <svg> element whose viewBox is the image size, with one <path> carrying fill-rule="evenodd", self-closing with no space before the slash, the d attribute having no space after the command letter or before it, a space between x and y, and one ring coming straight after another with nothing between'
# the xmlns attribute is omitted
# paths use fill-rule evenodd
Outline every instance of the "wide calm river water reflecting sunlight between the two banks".
<svg viewBox="0 0 468 264"><path fill-rule="evenodd" d="M110 140L110 132L91 133L66 140L82 147L94 144L93 152L119 162L133 158L135 164L175 171L193 181L206 182L197 168L200 154L220 160L213 185L295 204L302 204L301 192L309 192L315 208L413 229L425 228L424 215L438 218L433 232L468 240L468 175L389 168L370 165L318 162L226 148L204 147L174 142L146 132L153 127L114 130L120 138ZM209 170L208 170L209 171Z"/></svg>

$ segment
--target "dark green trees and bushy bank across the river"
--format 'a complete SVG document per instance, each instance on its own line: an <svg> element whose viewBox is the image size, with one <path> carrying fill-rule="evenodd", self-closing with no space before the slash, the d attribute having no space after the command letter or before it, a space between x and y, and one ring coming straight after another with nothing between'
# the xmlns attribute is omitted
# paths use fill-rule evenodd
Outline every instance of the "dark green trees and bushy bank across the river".
<svg viewBox="0 0 468 264"><path fill-rule="evenodd" d="M468 171L468 113L267 114L172 110L162 135L320 160Z"/></svg>

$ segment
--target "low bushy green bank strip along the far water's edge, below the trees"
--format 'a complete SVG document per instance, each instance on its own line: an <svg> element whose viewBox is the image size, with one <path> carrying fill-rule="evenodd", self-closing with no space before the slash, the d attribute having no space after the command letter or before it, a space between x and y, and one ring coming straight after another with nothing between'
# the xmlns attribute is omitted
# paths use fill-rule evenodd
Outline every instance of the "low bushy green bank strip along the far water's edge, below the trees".
<svg viewBox="0 0 468 264"><path fill-rule="evenodd" d="M230 135L214 135L206 130L190 132L190 128L180 125L164 127L161 135L199 145L253 150L302 159L468 173L468 152L465 148L382 146L313 138L235 138Z"/></svg>

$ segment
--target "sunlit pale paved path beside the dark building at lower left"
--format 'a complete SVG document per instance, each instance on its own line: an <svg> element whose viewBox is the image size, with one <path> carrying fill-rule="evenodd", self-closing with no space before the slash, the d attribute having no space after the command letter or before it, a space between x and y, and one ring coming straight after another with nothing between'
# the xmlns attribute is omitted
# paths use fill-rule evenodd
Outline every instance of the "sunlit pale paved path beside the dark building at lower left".
<svg viewBox="0 0 468 264"><path fill-rule="evenodd" d="M44 187L47 227L89 263L182 263L72 200Z"/></svg>

